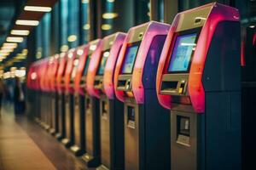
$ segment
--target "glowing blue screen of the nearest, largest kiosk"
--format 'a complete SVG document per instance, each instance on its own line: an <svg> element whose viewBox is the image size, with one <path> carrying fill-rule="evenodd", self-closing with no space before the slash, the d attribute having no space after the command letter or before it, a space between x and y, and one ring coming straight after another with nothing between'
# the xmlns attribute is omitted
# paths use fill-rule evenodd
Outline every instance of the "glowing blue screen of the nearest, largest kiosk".
<svg viewBox="0 0 256 170"><path fill-rule="evenodd" d="M168 72L188 71L191 55L195 50L195 39L196 33L177 37Z"/></svg>

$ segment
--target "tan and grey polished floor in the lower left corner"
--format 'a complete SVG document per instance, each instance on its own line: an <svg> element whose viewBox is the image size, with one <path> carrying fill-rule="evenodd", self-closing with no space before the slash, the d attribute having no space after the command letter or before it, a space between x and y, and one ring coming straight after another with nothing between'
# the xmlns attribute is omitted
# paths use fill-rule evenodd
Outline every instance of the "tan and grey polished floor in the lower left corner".
<svg viewBox="0 0 256 170"><path fill-rule="evenodd" d="M3 105L0 117L0 170L84 170L85 165L26 116Z"/></svg>

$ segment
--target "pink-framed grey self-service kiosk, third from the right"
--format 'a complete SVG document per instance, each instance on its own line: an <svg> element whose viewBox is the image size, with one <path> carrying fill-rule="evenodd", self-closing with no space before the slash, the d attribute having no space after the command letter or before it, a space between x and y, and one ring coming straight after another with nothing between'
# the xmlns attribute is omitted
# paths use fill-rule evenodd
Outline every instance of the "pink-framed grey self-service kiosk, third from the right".
<svg viewBox="0 0 256 170"><path fill-rule="evenodd" d="M113 71L124 40L122 32L104 37L92 55L87 76L88 94L98 99L100 108L99 113L92 113L99 115L100 126L102 165L97 169L124 169L124 106L113 91Z"/></svg>

